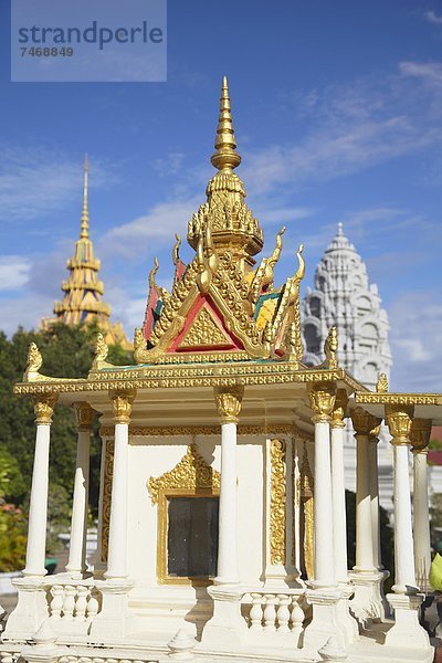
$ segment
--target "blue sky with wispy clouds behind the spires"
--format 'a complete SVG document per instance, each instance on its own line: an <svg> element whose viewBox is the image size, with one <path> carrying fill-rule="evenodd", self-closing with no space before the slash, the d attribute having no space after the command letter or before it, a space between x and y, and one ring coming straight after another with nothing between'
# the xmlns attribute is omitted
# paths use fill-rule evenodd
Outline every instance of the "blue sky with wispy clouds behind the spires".
<svg viewBox="0 0 442 663"><path fill-rule="evenodd" d="M9 29L0 0L0 328L61 296L87 151L105 298L131 336L154 256L168 285L204 200L227 74L267 248L287 227L280 281L304 242L312 284L343 221L389 314L393 388L441 390L442 2L169 0L167 83L11 83Z"/></svg>

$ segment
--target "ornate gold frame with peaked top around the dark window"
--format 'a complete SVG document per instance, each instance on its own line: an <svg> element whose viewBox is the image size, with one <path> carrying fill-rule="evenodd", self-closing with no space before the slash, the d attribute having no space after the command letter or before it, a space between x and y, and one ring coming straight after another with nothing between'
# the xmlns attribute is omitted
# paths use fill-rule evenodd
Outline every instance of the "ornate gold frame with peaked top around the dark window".
<svg viewBox="0 0 442 663"><path fill-rule="evenodd" d="M177 577L167 572L167 534L169 526L169 497L219 497L220 473L208 465L190 444L179 463L159 477L150 477L147 487L154 504L158 505L157 528L157 582L159 585L192 585L207 587L212 583L210 577Z"/></svg>

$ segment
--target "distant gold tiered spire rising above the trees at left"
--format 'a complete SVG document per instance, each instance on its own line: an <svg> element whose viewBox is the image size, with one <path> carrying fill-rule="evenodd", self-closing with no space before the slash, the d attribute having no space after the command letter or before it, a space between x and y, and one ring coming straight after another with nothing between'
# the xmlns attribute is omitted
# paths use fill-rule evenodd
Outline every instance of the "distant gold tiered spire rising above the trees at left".
<svg viewBox="0 0 442 663"><path fill-rule="evenodd" d="M97 322L106 341L119 343L130 348L120 323L110 323L110 306L103 302L103 281L98 278L101 262L94 256L94 245L90 238L88 211L88 159L84 158L83 208L80 238L75 243L75 254L67 260L70 276L62 282L63 301L54 304L54 318L43 318L41 328L49 329L55 323L69 326Z"/></svg>

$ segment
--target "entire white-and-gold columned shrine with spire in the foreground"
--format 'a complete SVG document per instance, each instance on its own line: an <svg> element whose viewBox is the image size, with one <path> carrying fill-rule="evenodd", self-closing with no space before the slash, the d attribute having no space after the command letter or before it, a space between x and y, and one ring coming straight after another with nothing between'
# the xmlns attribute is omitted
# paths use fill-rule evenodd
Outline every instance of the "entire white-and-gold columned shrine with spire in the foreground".
<svg viewBox="0 0 442 663"><path fill-rule="evenodd" d="M442 396L369 391L325 360L303 365L299 282L273 270L282 232L246 207L224 80L207 202L192 217L171 292L154 269L135 364L98 335L87 379L49 378L31 346L18 394L33 399L35 457L27 565L1 635L2 663L304 661L430 663L420 625L430 564L427 456ZM45 576L51 421L75 409L70 559ZM347 568L345 417L357 438L357 562ZM90 436L103 439L98 561L86 572ZM396 578L382 593L377 434L394 455ZM414 522L408 456L414 459ZM413 536L414 532L414 536Z"/></svg>

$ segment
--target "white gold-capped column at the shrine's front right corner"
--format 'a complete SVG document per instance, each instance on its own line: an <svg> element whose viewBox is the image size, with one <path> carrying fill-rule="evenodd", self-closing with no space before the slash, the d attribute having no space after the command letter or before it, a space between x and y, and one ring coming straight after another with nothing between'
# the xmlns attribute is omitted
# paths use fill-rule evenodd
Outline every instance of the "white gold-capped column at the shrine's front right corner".
<svg viewBox="0 0 442 663"><path fill-rule="evenodd" d="M315 424L315 559L313 586L335 587L334 522L330 465L330 413L335 390L317 388L309 391ZM332 545L330 545L332 544Z"/></svg>

